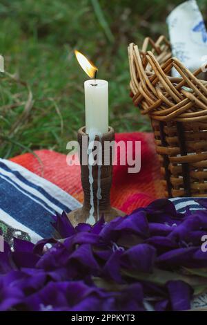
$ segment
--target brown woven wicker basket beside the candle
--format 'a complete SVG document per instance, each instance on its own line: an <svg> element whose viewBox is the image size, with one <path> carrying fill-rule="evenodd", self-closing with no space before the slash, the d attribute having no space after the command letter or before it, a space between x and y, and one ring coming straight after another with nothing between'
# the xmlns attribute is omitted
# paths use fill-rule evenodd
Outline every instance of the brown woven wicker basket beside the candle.
<svg viewBox="0 0 207 325"><path fill-rule="evenodd" d="M150 116L165 193L207 196L207 82L172 57L164 36L128 47L130 89L141 113ZM175 68L181 77L171 77Z"/></svg>

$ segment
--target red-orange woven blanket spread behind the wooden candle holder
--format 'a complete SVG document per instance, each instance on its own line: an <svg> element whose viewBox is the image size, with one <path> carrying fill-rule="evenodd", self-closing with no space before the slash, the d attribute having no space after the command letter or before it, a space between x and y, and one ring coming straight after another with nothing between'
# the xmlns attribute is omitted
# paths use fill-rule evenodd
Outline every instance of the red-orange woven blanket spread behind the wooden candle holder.
<svg viewBox="0 0 207 325"><path fill-rule="evenodd" d="M111 202L112 206L127 214L136 207L144 207L155 198L164 196L160 183L159 161L155 153L152 133L117 133L116 141L141 141L141 171L128 174L128 166L114 166ZM50 182L83 202L80 167L66 165L66 155L50 150L35 151L39 159L32 154L23 154L12 158L14 163ZM120 157L118 157L118 162Z"/></svg>

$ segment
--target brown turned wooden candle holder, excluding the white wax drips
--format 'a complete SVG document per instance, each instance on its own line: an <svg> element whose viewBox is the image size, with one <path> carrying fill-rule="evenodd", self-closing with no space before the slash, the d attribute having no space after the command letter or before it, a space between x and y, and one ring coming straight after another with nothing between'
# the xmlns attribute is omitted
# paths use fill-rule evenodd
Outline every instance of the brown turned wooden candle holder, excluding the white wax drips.
<svg viewBox="0 0 207 325"><path fill-rule="evenodd" d="M86 223L88 217L90 216L90 183L89 183L89 169L88 164L83 165L83 151L88 151L88 141L86 148L83 147L83 136L87 136L88 134L85 133L85 127L82 127L78 131L78 142L80 146L80 155L79 160L81 164L81 183L83 187L83 194L84 194L84 202L83 206L77 210L74 210L68 214L68 219L72 225L77 225L78 223ZM98 165L92 166L92 177L93 177L93 203L95 207L95 212L93 216L95 217L95 221L97 222L98 219L103 215L105 221L111 221L116 216L124 216L124 213L111 207L110 205L110 188L112 185L112 147L108 150L104 150L104 142L106 141L113 141L115 140L115 131L112 127L108 128L108 133L103 133L101 139L99 136L95 137L95 141L101 141L102 145L102 164L101 164L101 198L99 199L99 215L97 211L97 189L98 189ZM83 148L83 151L82 151ZM104 157L108 155L109 157L109 165L104 165Z"/></svg>

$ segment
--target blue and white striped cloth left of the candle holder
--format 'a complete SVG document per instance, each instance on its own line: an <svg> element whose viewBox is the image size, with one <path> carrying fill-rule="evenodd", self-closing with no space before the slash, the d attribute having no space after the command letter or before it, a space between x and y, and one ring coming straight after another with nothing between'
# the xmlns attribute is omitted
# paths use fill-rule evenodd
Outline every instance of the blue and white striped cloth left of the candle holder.
<svg viewBox="0 0 207 325"><path fill-rule="evenodd" d="M52 236L52 214L80 206L55 184L0 158L0 221L27 232L33 242Z"/></svg>

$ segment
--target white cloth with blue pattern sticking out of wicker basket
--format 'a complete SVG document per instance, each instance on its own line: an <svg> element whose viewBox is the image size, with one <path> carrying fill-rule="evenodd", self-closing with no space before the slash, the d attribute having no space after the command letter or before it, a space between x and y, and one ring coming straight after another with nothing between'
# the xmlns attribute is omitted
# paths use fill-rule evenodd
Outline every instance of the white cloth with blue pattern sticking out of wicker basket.
<svg viewBox="0 0 207 325"><path fill-rule="evenodd" d="M205 69L207 62L207 32L204 19L197 2L189 0L177 6L167 18L172 55L186 68L195 71L200 66ZM173 68L172 75L179 77ZM204 79L204 73L199 75Z"/></svg>

